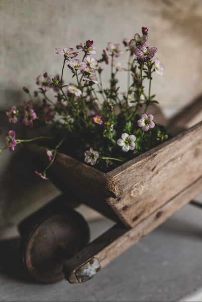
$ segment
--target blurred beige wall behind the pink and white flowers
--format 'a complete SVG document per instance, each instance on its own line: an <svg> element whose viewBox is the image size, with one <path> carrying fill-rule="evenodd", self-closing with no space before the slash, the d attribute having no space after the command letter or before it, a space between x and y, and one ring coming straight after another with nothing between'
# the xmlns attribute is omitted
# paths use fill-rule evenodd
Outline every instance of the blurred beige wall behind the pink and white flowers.
<svg viewBox="0 0 202 302"><path fill-rule="evenodd" d="M165 67L165 77L154 75L152 93L167 115L179 110L202 90L201 25L201 0L0 0L1 146L11 129L4 111L26 99L22 87L36 89L35 73L60 72L62 56L55 54L56 47L75 48L90 39L99 56L108 42L133 38L142 26L149 28L148 45L158 48ZM68 72L65 76L71 79ZM125 90L123 73L120 83ZM16 163L20 170L14 168ZM26 163L27 169L29 158ZM23 164L17 153L6 150L0 156L2 227L59 194L50 183L31 176L29 169L24 171Z"/></svg>

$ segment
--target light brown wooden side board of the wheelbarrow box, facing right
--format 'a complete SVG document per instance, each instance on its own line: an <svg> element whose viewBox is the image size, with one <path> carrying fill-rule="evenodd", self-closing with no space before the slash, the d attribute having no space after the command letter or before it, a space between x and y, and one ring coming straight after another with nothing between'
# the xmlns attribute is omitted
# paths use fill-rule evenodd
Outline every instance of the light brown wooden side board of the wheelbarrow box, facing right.
<svg viewBox="0 0 202 302"><path fill-rule="evenodd" d="M202 175L202 122L109 172L123 193L108 202L133 227Z"/></svg>

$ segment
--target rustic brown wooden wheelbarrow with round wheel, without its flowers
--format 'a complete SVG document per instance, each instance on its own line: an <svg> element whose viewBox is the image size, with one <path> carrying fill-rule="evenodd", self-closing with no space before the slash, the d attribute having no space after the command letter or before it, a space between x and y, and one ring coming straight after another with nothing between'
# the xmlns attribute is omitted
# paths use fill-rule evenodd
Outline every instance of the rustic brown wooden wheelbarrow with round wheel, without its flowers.
<svg viewBox="0 0 202 302"><path fill-rule="evenodd" d="M107 174L58 154L48 177L63 194L19 225L27 273L42 283L85 282L195 198L202 191L202 122L184 128L199 111L201 98L164 120L177 135ZM46 167L45 147L30 152ZM87 222L73 210L80 203L117 223L88 244Z"/></svg>

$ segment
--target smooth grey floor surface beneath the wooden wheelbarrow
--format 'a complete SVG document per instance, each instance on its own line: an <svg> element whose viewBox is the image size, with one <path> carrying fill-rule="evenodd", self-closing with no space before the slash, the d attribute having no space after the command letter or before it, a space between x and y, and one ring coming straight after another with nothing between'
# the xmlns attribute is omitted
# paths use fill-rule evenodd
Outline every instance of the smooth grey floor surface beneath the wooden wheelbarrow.
<svg viewBox="0 0 202 302"><path fill-rule="evenodd" d="M1 301L201 301L202 211L187 205L83 284L41 285L18 260L19 239L0 243ZM110 226L91 221L91 239Z"/></svg>

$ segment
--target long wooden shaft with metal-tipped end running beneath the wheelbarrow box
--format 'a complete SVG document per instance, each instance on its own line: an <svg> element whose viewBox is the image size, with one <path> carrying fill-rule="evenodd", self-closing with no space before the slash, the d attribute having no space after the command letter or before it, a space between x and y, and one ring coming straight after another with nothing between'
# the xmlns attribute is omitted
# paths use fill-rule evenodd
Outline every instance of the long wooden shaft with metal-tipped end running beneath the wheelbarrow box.
<svg viewBox="0 0 202 302"><path fill-rule="evenodd" d="M157 226L163 223L177 210L186 205L192 198L196 197L200 193L201 187L202 177L190 184L166 204L156 209L132 229L127 229L126 226L121 223L114 225L113 228L96 238L75 257L65 262L63 268L65 278L70 283L82 282L82 280L77 278L78 272L82 271L86 263L89 264L90 267L90 263L94 259L98 260L99 267L97 271L99 271L100 268L104 268L142 237L157 228Z"/></svg>

